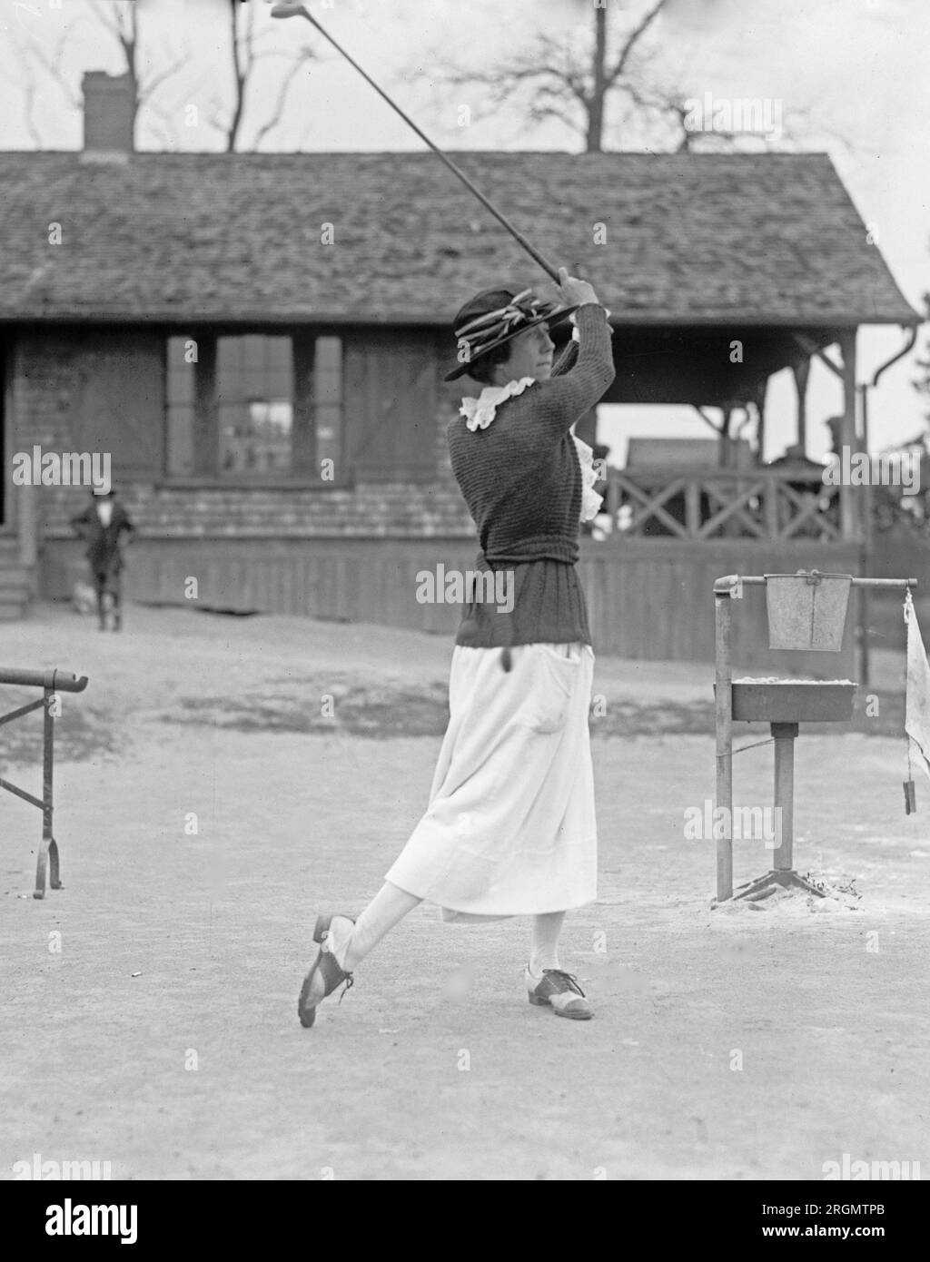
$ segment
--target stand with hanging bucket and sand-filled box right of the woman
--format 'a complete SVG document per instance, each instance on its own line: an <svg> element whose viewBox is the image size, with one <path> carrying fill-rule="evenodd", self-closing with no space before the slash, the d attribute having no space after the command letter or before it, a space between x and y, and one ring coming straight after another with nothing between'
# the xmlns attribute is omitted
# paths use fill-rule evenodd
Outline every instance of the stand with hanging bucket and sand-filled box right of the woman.
<svg viewBox="0 0 930 1262"><path fill-rule="evenodd" d="M787 581L787 582L786 582ZM791 582L794 581L794 582ZM732 623L734 599L745 587L763 587L770 602L770 647L837 652L843 641L849 587L906 591L916 578L852 578L849 574L727 574L714 583L717 736L717 808L723 835L717 838L717 902L733 897L733 723L767 722L775 743L775 808L781 835L772 870L742 888L737 899L757 899L776 886L794 886L823 897L823 891L794 871L794 742L799 724L848 722L857 685L845 680L800 683L792 679L733 680ZM818 591L820 589L820 591ZM779 817L776 815L776 819Z"/></svg>

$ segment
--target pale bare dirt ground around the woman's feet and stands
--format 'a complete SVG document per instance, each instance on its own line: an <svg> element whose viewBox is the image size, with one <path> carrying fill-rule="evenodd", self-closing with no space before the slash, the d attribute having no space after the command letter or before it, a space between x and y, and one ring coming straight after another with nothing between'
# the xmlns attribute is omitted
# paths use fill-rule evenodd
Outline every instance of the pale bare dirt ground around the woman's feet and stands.
<svg viewBox="0 0 930 1262"><path fill-rule="evenodd" d="M40 606L0 627L5 665L91 680L62 697L64 888L44 901L39 813L0 796L0 1177L34 1153L117 1179L818 1180L843 1153L930 1171L930 784L905 817L892 728L798 743L796 866L835 897L713 910L713 842L684 837L713 798L712 668L601 659L599 899L563 954L596 1018L529 1006L525 921L420 906L307 1031L315 912L361 910L424 809L452 646L126 621L103 636ZM880 665L891 695L901 663ZM24 699L3 689L4 711ZM33 793L39 728L0 728L1 774ZM768 801L771 746L736 777ZM737 843L737 882L768 867Z"/></svg>

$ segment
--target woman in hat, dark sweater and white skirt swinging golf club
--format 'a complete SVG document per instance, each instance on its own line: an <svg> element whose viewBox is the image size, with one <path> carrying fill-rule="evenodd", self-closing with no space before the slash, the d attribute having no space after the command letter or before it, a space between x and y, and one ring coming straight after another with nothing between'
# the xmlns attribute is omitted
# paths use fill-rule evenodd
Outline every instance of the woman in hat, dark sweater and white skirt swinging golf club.
<svg viewBox="0 0 930 1262"><path fill-rule="evenodd" d="M444 920L530 916L530 1003L593 1015L558 955L565 911L597 897L594 654L575 562L579 524L601 497L591 448L570 428L613 380L613 357L592 286L564 268L559 286L562 305L495 289L456 318L459 365L445 380L467 372L485 390L449 425L452 468L478 529L478 570L502 573L512 603L466 604L429 808L357 920L317 919L304 1026L424 899ZM569 317L573 341L553 367L549 328Z"/></svg>

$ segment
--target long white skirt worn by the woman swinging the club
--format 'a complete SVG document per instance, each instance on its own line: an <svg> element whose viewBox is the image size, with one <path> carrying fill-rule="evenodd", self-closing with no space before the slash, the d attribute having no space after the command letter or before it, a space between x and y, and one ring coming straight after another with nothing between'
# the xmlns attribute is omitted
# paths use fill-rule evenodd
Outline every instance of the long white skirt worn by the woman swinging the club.
<svg viewBox="0 0 930 1262"><path fill-rule="evenodd" d="M444 920L565 911L597 897L583 644L456 645L429 808L385 880Z"/></svg>

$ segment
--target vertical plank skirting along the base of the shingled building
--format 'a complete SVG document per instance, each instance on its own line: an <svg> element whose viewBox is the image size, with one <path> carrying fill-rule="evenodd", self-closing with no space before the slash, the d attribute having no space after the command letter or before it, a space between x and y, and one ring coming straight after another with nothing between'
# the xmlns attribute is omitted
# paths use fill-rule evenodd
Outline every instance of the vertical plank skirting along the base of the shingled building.
<svg viewBox="0 0 930 1262"><path fill-rule="evenodd" d="M293 613L346 622L376 622L454 635L459 607L420 603L418 574L474 568L476 545L463 539L143 539L127 553L129 599L189 606L197 579L201 606ZM584 540L579 570L598 652L623 658L712 661L713 583L723 574L858 573L851 544L789 540ZM83 577L81 544L48 540L43 594L67 597ZM851 602L843 654L770 654L765 598L757 592L734 610L739 668L837 678L854 673L856 606Z"/></svg>

